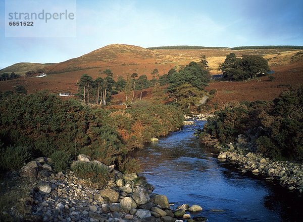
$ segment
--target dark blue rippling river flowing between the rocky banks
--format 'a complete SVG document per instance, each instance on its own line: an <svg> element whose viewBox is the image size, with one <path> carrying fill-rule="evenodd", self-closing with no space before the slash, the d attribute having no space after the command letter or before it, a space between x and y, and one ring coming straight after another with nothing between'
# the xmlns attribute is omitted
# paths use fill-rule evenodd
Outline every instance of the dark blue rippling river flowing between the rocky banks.
<svg viewBox="0 0 303 222"><path fill-rule="evenodd" d="M169 202L198 204L209 221L303 221L303 197L220 163L194 136L205 121L183 126L134 154L142 173Z"/></svg>

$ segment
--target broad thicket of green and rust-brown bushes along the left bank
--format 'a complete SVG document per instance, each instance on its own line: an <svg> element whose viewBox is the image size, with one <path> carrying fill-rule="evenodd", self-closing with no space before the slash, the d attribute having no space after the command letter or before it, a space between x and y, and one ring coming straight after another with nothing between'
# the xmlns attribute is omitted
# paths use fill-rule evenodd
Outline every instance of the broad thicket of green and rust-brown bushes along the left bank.
<svg viewBox="0 0 303 222"><path fill-rule="evenodd" d="M183 118L177 107L148 102L122 111L63 101L47 92L12 94L0 100L0 168L18 170L26 161L51 157L58 172L78 154L87 154L133 171L128 166L137 165L128 152L178 129Z"/></svg>

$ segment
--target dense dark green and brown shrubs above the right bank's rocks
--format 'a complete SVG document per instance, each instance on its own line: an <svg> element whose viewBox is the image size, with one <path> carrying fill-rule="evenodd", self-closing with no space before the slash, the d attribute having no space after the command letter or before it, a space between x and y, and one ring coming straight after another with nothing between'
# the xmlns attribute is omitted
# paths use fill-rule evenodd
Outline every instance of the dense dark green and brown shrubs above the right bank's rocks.
<svg viewBox="0 0 303 222"><path fill-rule="evenodd" d="M303 87L282 93L272 102L241 102L217 111L200 134L211 141L234 142L249 138L256 152L273 159L303 161Z"/></svg>

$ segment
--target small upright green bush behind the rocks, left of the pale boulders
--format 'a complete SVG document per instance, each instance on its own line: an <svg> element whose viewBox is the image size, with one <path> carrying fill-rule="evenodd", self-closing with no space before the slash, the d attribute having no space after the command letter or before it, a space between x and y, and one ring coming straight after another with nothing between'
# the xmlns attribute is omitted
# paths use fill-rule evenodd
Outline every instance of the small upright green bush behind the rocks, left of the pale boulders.
<svg viewBox="0 0 303 222"><path fill-rule="evenodd" d="M55 151L52 156L52 163L55 172L66 170L71 164L71 154L63 151Z"/></svg>

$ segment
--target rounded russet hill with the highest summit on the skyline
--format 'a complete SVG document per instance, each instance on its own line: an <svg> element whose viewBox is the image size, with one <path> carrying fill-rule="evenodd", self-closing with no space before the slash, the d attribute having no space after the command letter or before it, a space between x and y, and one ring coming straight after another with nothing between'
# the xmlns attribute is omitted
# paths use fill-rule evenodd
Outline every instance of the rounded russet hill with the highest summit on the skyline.
<svg viewBox="0 0 303 222"><path fill-rule="evenodd" d="M160 52L134 45L113 44L94 50L90 53L60 62L48 67L48 73L87 73L93 77L100 71L110 68L115 76L126 76L126 73L150 72L150 64L157 64L166 56ZM145 69L142 67L145 67ZM140 70L141 68L141 70ZM148 73L149 74L149 73Z"/></svg>

